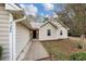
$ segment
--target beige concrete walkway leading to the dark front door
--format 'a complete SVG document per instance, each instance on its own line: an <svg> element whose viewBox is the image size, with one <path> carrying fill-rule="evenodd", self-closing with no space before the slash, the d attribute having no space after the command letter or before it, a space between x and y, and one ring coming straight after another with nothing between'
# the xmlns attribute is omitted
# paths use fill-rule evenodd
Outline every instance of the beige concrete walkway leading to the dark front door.
<svg viewBox="0 0 86 64"><path fill-rule="evenodd" d="M45 57L49 57L48 52L38 40L34 40L23 61L35 61Z"/></svg>

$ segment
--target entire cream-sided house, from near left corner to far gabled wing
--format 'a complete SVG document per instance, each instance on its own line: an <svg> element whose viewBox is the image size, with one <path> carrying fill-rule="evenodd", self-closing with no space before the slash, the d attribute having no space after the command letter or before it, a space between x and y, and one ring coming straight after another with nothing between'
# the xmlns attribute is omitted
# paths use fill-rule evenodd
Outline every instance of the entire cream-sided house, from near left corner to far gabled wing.
<svg viewBox="0 0 86 64"><path fill-rule="evenodd" d="M3 61L23 60L32 47L32 39L65 39L67 30L69 28L56 18L46 23L29 23L20 5L0 3L0 46L3 48Z"/></svg>

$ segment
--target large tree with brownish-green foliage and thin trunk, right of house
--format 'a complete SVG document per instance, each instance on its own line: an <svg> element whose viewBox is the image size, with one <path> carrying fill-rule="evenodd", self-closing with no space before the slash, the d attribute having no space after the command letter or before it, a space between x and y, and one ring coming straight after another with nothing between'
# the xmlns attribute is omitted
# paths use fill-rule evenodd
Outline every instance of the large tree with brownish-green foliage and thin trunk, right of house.
<svg viewBox="0 0 86 64"><path fill-rule="evenodd" d="M66 4L64 10L57 12L58 18L66 24L74 36L81 36L81 42L84 47L84 38L86 34L86 4L73 3Z"/></svg>

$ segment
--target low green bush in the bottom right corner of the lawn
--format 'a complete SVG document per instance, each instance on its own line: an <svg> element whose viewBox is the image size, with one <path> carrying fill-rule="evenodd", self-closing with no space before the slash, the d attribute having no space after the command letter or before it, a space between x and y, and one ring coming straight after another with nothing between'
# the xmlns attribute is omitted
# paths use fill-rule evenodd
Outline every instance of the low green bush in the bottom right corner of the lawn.
<svg viewBox="0 0 86 64"><path fill-rule="evenodd" d="M86 61L86 52L78 52L70 55L71 61Z"/></svg>

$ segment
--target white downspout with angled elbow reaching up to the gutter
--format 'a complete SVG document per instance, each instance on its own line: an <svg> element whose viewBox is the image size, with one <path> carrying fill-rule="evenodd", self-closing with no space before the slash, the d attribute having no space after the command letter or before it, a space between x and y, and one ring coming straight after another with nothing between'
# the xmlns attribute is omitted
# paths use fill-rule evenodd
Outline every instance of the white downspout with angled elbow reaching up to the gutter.
<svg viewBox="0 0 86 64"><path fill-rule="evenodd" d="M12 23L12 25L13 25L13 27L12 27L12 29L13 29L13 33L12 33L12 46L13 46L13 52L12 52L12 55L13 55L13 61L16 61L16 23L17 22L21 22L21 21L24 21L24 20L26 20L26 15L24 16L24 17L22 17L22 18L19 18L19 20L14 20L13 21L13 23Z"/></svg>

